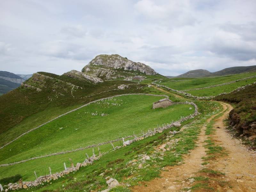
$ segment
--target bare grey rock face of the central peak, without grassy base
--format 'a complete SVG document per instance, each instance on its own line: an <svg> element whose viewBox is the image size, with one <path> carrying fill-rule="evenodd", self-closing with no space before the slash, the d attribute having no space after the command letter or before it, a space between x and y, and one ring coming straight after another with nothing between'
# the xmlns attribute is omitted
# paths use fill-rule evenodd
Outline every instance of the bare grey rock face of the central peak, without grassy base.
<svg viewBox="0 0 256 192"><path fill-rule="evenodd" d="M112 55L98 55L92 61L88 63L83 69L82 72L89 72L93 70L93 68L106 68L113 69L123 69L129 71L138 71L144 73L146 75L156 75L156 71L144 63L133 62L127 58L121 57L117 54ZM102 70L100 70L102 71ZM99 75L99 71L96 75Z"/></svg>

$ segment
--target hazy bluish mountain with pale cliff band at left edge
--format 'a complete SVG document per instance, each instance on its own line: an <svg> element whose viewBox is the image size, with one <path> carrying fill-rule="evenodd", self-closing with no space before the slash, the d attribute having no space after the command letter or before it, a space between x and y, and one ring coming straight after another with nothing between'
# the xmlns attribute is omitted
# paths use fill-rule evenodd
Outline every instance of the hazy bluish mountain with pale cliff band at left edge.
<svg viewBox="0 0 256 192"><path fill-rule="evenodd" d="M0 95L19 87L24 81L25 79L14 73L0 71Z"/></svg>

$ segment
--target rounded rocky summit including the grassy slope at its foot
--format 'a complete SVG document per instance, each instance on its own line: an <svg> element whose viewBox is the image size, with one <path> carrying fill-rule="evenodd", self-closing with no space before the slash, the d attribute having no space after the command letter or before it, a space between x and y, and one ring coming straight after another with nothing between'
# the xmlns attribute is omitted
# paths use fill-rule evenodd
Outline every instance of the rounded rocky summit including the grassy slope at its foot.
<svg viewBox="0 0 256 192"><path fill-rule="evenodd" d="M154 69L144 63L136 63L117 54L96 56L82 69L82 72L102 79L122 79L138 74L157 75Z"/></svg>

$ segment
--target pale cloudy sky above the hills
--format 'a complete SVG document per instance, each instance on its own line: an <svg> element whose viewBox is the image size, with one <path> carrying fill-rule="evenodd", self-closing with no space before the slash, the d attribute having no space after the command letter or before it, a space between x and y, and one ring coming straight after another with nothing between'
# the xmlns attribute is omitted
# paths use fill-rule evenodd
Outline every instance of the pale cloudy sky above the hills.
<svg viewBox="0 0 256 192"><path fill-rule="evenodd" d="M0 70L81 71L119 54L162 75L256 65L255 0L2 0Z"/></svg>

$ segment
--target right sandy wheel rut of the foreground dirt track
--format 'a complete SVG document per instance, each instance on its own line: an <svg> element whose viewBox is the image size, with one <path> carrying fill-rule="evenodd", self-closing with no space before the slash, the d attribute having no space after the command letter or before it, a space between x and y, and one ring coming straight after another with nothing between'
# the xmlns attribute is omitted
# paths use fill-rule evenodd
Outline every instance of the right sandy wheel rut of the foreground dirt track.
<svg viewBox="0 0 256 192"><path fill-rule="evenodd" d="M214 127L220 129L216 129L216 134L212 138L228 151L228 156L218 158L209 167L225 173L224 180L232 186L232 188L219 188L219 191L256 191L256 154L228 134L223 120L232 107L226 103L221 104L224 109L229 109L214 124Z"/></svg>

